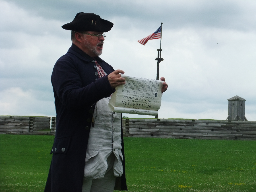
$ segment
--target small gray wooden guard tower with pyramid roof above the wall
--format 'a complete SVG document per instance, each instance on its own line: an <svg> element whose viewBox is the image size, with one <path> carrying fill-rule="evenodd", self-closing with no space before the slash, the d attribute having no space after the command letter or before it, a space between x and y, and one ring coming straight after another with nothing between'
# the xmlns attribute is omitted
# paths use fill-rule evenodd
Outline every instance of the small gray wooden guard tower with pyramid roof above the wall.
<svg viewBox="0 0 256 192"><path fill-rule="evenodd" d="M244 116L245 112L245 99L234 96L228 99L228 117L226 120L229 121L247 121Z"/></svg>

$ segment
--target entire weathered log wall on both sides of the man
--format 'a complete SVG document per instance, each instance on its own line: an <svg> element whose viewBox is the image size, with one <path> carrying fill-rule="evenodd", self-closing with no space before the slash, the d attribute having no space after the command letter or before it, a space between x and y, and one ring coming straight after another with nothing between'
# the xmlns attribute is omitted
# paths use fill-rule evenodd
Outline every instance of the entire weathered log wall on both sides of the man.
<svg viewBox="0 0 256 192"><path fill-rule="evenodd" d="M56 130L56 117L0 116L0 132ZM256 121L123 119L126 137L256 140Z"/></svg>

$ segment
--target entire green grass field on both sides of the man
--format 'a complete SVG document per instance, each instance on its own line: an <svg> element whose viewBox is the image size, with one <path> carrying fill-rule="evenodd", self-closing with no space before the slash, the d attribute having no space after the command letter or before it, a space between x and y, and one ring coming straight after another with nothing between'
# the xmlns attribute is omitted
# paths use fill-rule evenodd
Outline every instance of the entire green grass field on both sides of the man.
<svg viewBox="0 0 256 192"><path fill-rule="evenodd" d="M256 141L124 140L129 191L256 191ZM43 191L52 143L0 135L0 191Z"/></svg>

